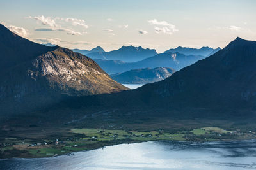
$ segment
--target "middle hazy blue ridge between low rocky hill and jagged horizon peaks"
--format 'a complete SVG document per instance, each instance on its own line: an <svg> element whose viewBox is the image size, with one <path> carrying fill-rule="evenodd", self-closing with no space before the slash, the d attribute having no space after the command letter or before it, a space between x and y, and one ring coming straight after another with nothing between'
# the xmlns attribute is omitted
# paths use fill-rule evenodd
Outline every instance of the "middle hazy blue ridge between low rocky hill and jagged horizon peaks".
<svg viewBox="0 0 256 170"><path fill-rule="evenodd" d="M138 62L123 62L118 60L99 60L94 59L102 69L107 73L115 74L129 71L131 69L171 67L175 70L189 66L198 60L204 59L204 56L184 55L181 53L159 53L147 59Z"/></svg>

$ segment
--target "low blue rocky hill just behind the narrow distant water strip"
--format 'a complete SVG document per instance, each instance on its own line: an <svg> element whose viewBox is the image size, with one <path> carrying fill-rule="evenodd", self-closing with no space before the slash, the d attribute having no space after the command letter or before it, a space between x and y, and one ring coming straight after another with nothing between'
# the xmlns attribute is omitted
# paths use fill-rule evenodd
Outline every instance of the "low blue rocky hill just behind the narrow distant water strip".
<svg viewBox="0 0 256 170"><path fill-rule="evenodd" d="M175 72L172 68L157 67L154 69L132 69L130 71L110 75L111 78L123 84L146 84L164 80Z"/></svg>

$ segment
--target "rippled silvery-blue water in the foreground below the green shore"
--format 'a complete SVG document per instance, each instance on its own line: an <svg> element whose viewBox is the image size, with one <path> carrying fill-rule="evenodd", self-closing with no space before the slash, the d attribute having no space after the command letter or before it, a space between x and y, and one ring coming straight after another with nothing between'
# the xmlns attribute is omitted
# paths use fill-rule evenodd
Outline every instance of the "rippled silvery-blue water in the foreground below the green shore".
<svg viewBox="0 0 256 170"><path fill-rule="evenodd" d="M256 169L256 140L121 144L52 158L0 160L0 169Z"/></svg>

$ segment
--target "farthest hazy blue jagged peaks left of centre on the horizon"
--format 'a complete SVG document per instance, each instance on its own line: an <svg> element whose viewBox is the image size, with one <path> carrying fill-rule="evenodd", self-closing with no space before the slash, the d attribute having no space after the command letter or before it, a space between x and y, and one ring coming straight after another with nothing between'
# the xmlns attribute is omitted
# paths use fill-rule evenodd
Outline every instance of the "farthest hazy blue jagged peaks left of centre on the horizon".
<svg viewBox="0 0 256 170"><path fill-rule="evenodd" d="M94 52L87 53L88 57L92 59L102 59L102 60L122 60L124 62L136 62L147 57L152 57L156 55L156 50L151 50L149 48L134 47L134 46L122 46L118 50L113 50L110 52Z"/></svg>

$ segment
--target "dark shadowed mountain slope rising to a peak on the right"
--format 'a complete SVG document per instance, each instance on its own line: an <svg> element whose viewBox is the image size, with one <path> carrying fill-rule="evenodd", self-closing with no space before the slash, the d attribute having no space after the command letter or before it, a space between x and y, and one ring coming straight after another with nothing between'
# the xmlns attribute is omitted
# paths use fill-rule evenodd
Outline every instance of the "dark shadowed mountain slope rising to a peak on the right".
<svg viewBox="0 0 256 170"><path fill-rule="evenodd" d="M116 94L72 97L56 106L56 110L86 111L96 104L99 111L115 110L108 114L117 114L122 120L129 115L131 121L138 117L146 122L158 117L248 120L255 117L255 66L256 41L236 38L223 50L163 81Z"/></svg>

